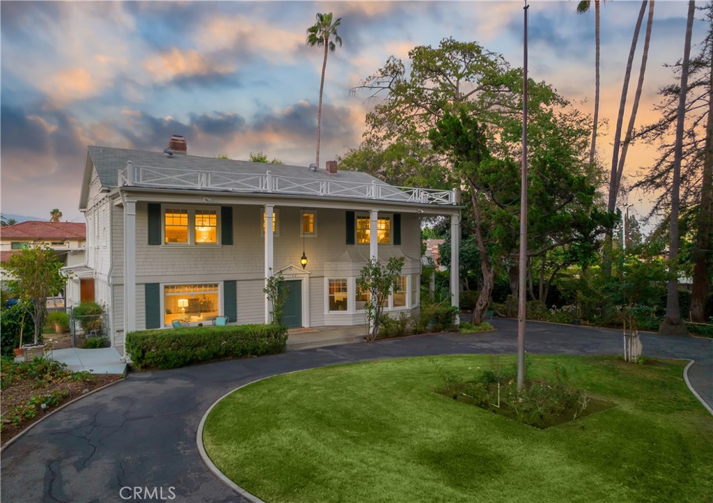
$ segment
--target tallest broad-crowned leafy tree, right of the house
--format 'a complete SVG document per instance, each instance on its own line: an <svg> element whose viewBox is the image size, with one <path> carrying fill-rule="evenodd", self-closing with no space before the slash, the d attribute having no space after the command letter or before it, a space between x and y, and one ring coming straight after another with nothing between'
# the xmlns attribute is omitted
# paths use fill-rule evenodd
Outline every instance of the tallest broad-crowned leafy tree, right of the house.
<svg viewBox="0 0 713 503"><path fill-rule="evenodd" d="M471 203L468 211L473 214L464 222L473 222L468 235L478 241L483 274L477 322L490 300L496 268L515 267L518 213L513 208L519 209L523 71L476 42L453 39L443 39L435 48L418 46L409 51L409 59L406 64L392 56L354 89L383 99L366 116L364 143L341 164L399 185L467 189L463 200ZM528 108L529 157L543 174L533 177L542 191L533 198L528 240L538 256L580 240L580 232L591 237L590 230L598 228L589 217L600 173L585 157L588 118L568 108L550 86L534 81L528 82ZM438 126L439 121L445 122ZM429 140L434 129L438 133ZM581 228L559 220L580 204L589 208L574 212ZM596 217L604 218L602 213Z"/></svg>

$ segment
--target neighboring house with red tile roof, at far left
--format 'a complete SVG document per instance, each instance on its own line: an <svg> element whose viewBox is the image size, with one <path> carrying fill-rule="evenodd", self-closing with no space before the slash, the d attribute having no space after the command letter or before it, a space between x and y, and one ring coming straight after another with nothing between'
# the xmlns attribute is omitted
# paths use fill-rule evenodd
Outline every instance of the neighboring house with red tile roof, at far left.
<svg viewBox="0 0 713 503"><path fill-rule="evenodd" d="M29 246L48 246L65 265L63 270L75 270L85 263L86 225L76 222L44 222L28 220L0 228L1 261ZM66 305L80 300L93 300L93 278L73 274L65 288Z"/></svg>

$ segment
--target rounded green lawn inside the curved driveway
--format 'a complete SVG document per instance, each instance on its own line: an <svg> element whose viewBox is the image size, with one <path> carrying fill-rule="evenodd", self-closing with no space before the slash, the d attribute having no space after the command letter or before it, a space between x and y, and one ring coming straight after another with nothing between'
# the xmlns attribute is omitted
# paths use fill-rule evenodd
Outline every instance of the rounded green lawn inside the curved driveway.
<svg viewBox="0 0 713 503"><path fill-rule="evenodd" d="M578 385L617 404L537 430L434 392L444 368L470 377L488 358L272 377L214 407L205 449L227 477L270 503L713 500L713 417L684 384L684 363L533 356L533 376L556 360Z"/></svg>

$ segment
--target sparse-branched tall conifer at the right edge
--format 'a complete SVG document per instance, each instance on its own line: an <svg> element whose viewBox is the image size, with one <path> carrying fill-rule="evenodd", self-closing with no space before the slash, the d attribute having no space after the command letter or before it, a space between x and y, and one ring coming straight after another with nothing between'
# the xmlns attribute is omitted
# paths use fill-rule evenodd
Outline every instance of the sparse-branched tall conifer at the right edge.
<svg viewBox="0 0 713 503"><path fill-rule="evenodd" d="M691 317L705 321L705 302L712 288L713 270L713 2L705 7L707 32L698 54L688 66L679 176L679 220L692 238L693 287ZM652 213L671 210L676 128L679 118L682 61L670 66L676 81L660 89L656 109L660 118L645 126L640 138L658 146L659 157L643 171L635 187L655 195ZM665 222L667 230L668 222Z"/></svg>

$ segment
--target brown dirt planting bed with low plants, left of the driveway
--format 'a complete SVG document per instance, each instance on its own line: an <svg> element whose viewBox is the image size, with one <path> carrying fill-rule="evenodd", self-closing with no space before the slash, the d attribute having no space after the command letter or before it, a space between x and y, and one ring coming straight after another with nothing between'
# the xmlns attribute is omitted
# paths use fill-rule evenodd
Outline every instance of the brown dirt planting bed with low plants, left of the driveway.
<svg viewBox="0 0 713 503"><path fill-rule="evenodd" d="M71 372L67 374L71 375ZM62 378L54 377L47 381L42 380L40 385L35 378L26 376L13 378L9 384L6 384L6 373L3 372L4 385L0 390L2 414L0 443L9 441L26 427L66 402L123 378L120 374L89 375L86 372L81 372L81 377L77 375L68 377L68 375ZM43 410L41 402L44 397L56 397L56 400L52 400L51 405ZM12 417L18 415L19 407L23 408L24 412L22 420L17 422Z"/></svg>

